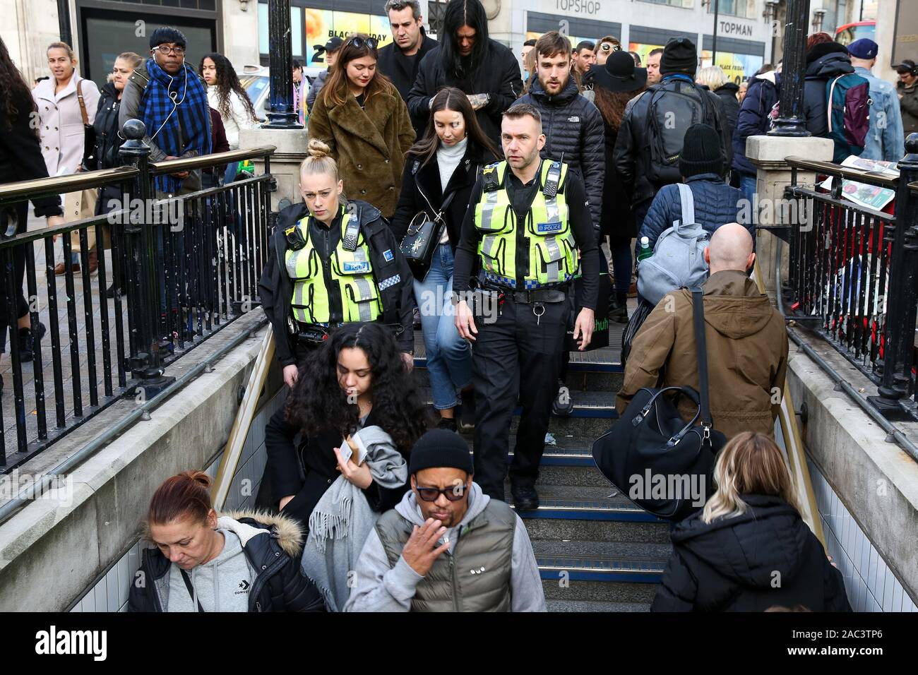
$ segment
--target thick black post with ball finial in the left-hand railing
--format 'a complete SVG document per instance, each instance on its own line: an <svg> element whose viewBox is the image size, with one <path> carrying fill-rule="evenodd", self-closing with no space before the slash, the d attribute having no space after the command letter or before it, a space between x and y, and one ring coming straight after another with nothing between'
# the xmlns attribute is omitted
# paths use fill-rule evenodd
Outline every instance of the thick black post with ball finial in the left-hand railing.
<svg viewBox="0 0 918 675"><path fill-rule="evenodd" d="M161 226L146 222L151 199L151 176L149 171L150 146L143 142L147 129L140 119L129 119L124 123L122 133L127 141L118 154L125 163L136 167L140 174L134 183L129 204L124 208L122 222L125 222L125 275L128 278L128 308L130 326L131 374L139 381L135 392L139 401L149 400L175 381L174 377L163 377L160 356L160 282L157 276L159 254L158 237Z"/></svg>

